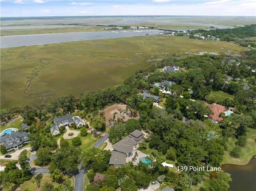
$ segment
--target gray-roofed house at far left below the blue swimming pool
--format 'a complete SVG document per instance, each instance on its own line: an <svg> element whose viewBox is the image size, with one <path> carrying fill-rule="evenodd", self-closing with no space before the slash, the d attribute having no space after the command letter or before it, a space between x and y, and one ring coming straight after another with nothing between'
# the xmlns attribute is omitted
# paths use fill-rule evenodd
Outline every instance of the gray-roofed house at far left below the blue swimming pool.
<svg viewBox="0 0 256 191"><path fill-rule="evenodd" d="M11 132L10 134L1 136L0 143L5 146L7 151L18 149L25 143L30 142L29 133L23 130Z"/></svg>

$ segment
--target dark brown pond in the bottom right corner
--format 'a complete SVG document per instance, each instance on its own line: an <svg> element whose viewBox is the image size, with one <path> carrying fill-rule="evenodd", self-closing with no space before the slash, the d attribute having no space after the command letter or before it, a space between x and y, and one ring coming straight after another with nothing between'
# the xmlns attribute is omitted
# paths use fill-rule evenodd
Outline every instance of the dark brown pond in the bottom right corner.
<svg viewBox="0 0 256 191"><path fill-rule="evenodd" d="M231 174L232 182L229 182L232 191L256 190L256 158L252 158L247 165L224 164L221 169Z"/></svg>

